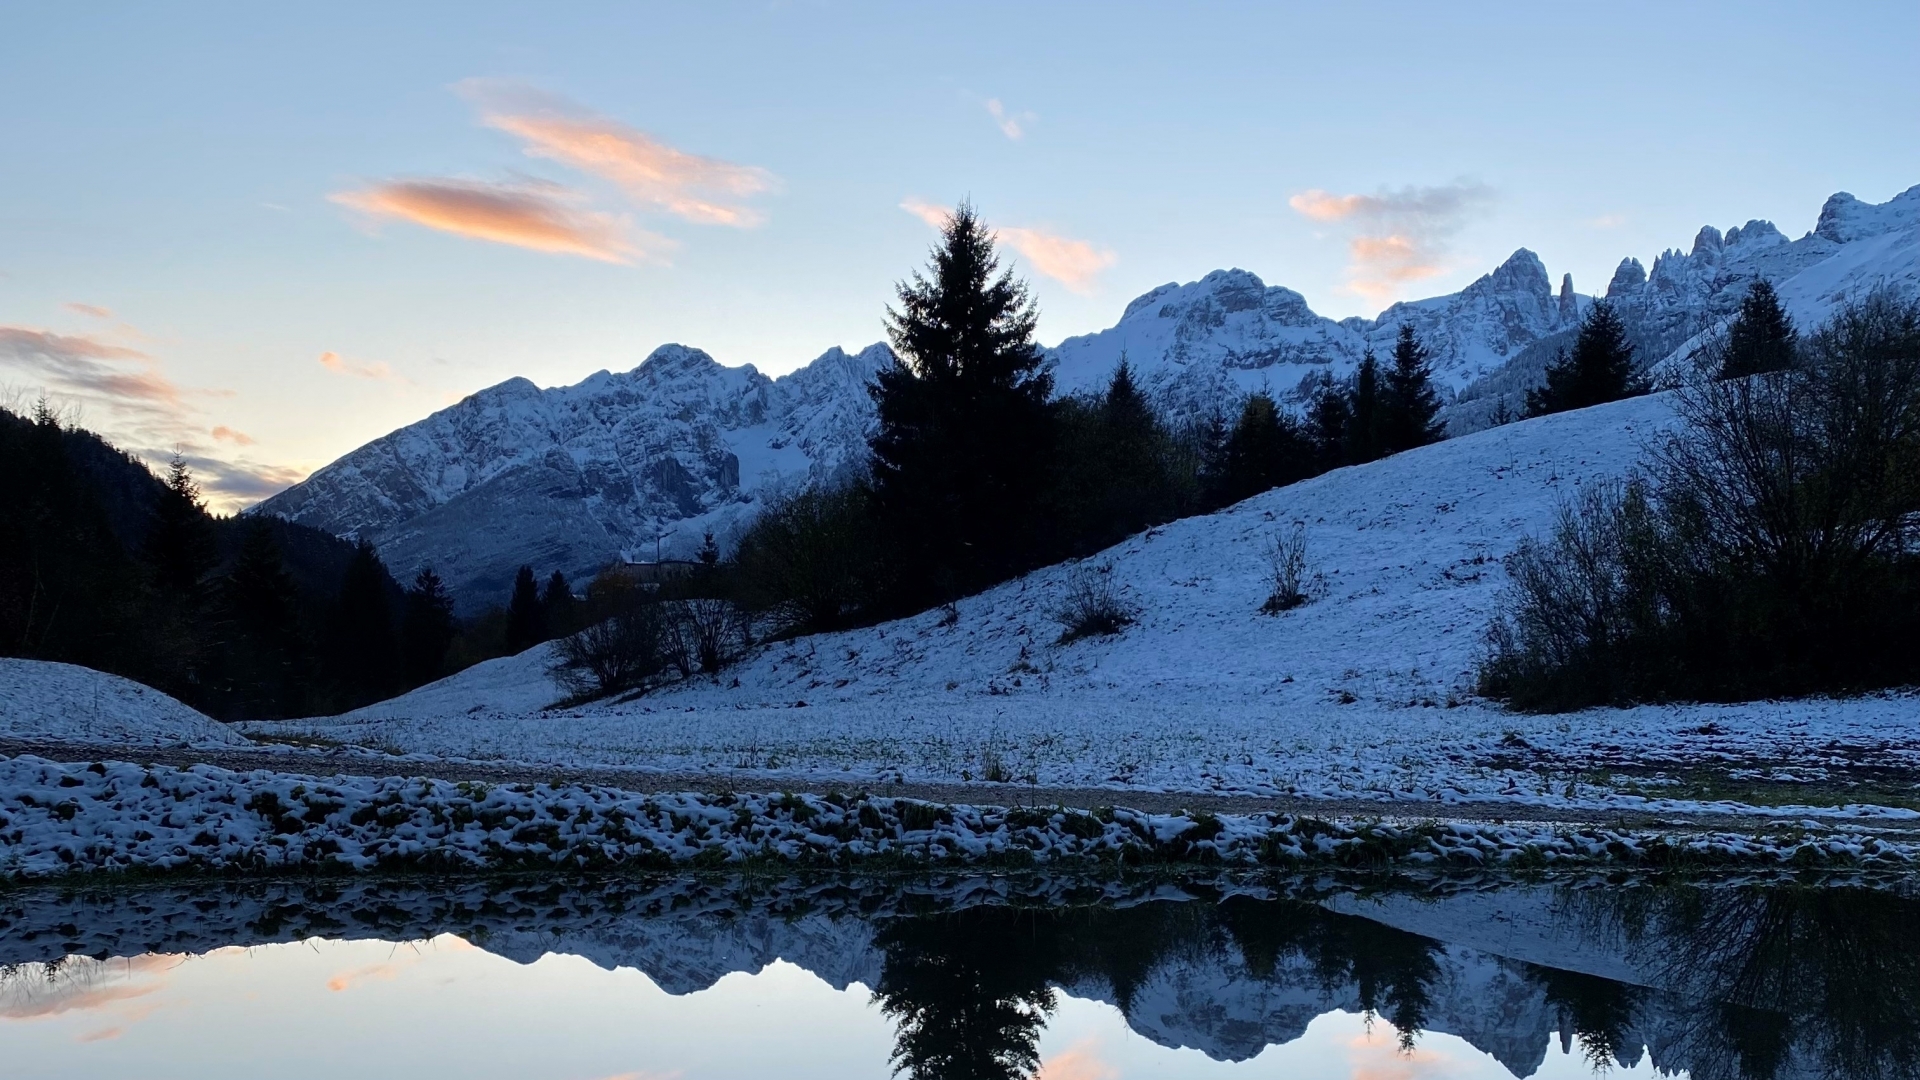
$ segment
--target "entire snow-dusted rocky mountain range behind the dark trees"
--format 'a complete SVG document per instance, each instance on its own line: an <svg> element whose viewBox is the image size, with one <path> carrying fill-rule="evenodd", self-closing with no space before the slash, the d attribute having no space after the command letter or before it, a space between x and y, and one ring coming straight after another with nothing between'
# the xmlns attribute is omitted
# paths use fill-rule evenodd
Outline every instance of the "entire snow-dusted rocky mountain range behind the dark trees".
<svg viewBox="0 0 1920 1080"><path fill-rule="evenodd" d="M1768 221L1703 227L1647 271L1622 259L1605 298L1647 367L1672 369L1768 279L1811 329L1843 300L1887 286L1920 294L1920 186L1885 204L1839 192L1788 240ZM1394 304L1377 319L1329 319L1244 269L1162 284L1119 321L1046 350L1062 394L1098 390L1121 357L1175 417L1233 407L1252 390L1300 404L1346 379L1413 325L1432 350L1452 434L1517 413L1528 386L1594 304L1563 275L1555 290L1521 248L1459 292ZM770 379L680 344L626 373L572 386L509 379L376 438L252 513L372 542L405 580L432 565L463 609L505 600L522 563L591 577L614 559L689 555L722 544L770 496L833 482L864 463L868 384L883 344L831 348Z"/></svg>

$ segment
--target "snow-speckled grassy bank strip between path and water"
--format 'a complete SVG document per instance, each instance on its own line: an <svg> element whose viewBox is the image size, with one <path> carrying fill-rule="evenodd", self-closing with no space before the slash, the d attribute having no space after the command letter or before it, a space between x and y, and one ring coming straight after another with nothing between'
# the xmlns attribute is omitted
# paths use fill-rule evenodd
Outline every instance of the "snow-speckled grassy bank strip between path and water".
<svg viewBox="0 0 1920 1080"><path fill-rule="evenodd" d="M1035 811L872 796L636 796L588 784L453 784L0 759L0 880L75 871L672 867L885 857L1225 865L1839 865L1907 869L1920 846L1828 836L1538 824L1327 822L1294 815Z"/></svg>

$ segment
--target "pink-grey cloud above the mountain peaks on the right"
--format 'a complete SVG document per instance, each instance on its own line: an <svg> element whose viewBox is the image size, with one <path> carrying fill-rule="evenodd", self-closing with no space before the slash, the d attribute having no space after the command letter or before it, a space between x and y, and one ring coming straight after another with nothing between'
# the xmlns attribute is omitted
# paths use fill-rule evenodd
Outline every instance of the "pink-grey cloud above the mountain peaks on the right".
<svg viewBox="0 0 1920 1080"><path fill-rule="evenodd" d="M1446 273L1448 242L1492 194L1473 183L1382 194L1313 188L1286 204L1313 221L1344 223L1357 233L1348 240L1346 288L1384 304L1404 286Z"/></svg>

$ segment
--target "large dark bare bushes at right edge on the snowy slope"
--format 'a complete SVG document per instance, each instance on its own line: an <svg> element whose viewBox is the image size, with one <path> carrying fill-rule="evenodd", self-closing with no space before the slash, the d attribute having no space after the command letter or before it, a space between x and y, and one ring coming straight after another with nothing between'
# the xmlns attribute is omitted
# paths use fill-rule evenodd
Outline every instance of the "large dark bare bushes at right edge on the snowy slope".
<svg viewBox="0 0 1920 1080"><path fill-rule="evenodd" d="M1795 367L1674 402L1644 480L1509 557L1482 692L1572 709L1920 680L1920 304L1870 296Z"/></svg>

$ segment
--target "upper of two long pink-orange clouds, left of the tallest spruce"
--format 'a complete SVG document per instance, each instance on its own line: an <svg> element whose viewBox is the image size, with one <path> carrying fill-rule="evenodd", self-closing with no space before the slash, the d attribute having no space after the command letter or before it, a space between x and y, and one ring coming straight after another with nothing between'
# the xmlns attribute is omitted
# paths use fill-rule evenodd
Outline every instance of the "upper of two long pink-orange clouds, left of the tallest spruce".
<svg viewBox="0 0 1920 1080"><path fill-rule="evenodd" d="M528 158L611 181L639 206L701 225L751 227L766 219L747 204L778 186L766 169L687 154L522 83L467 79L457 88L480 110L482 123L524 142Z"/></svg>

